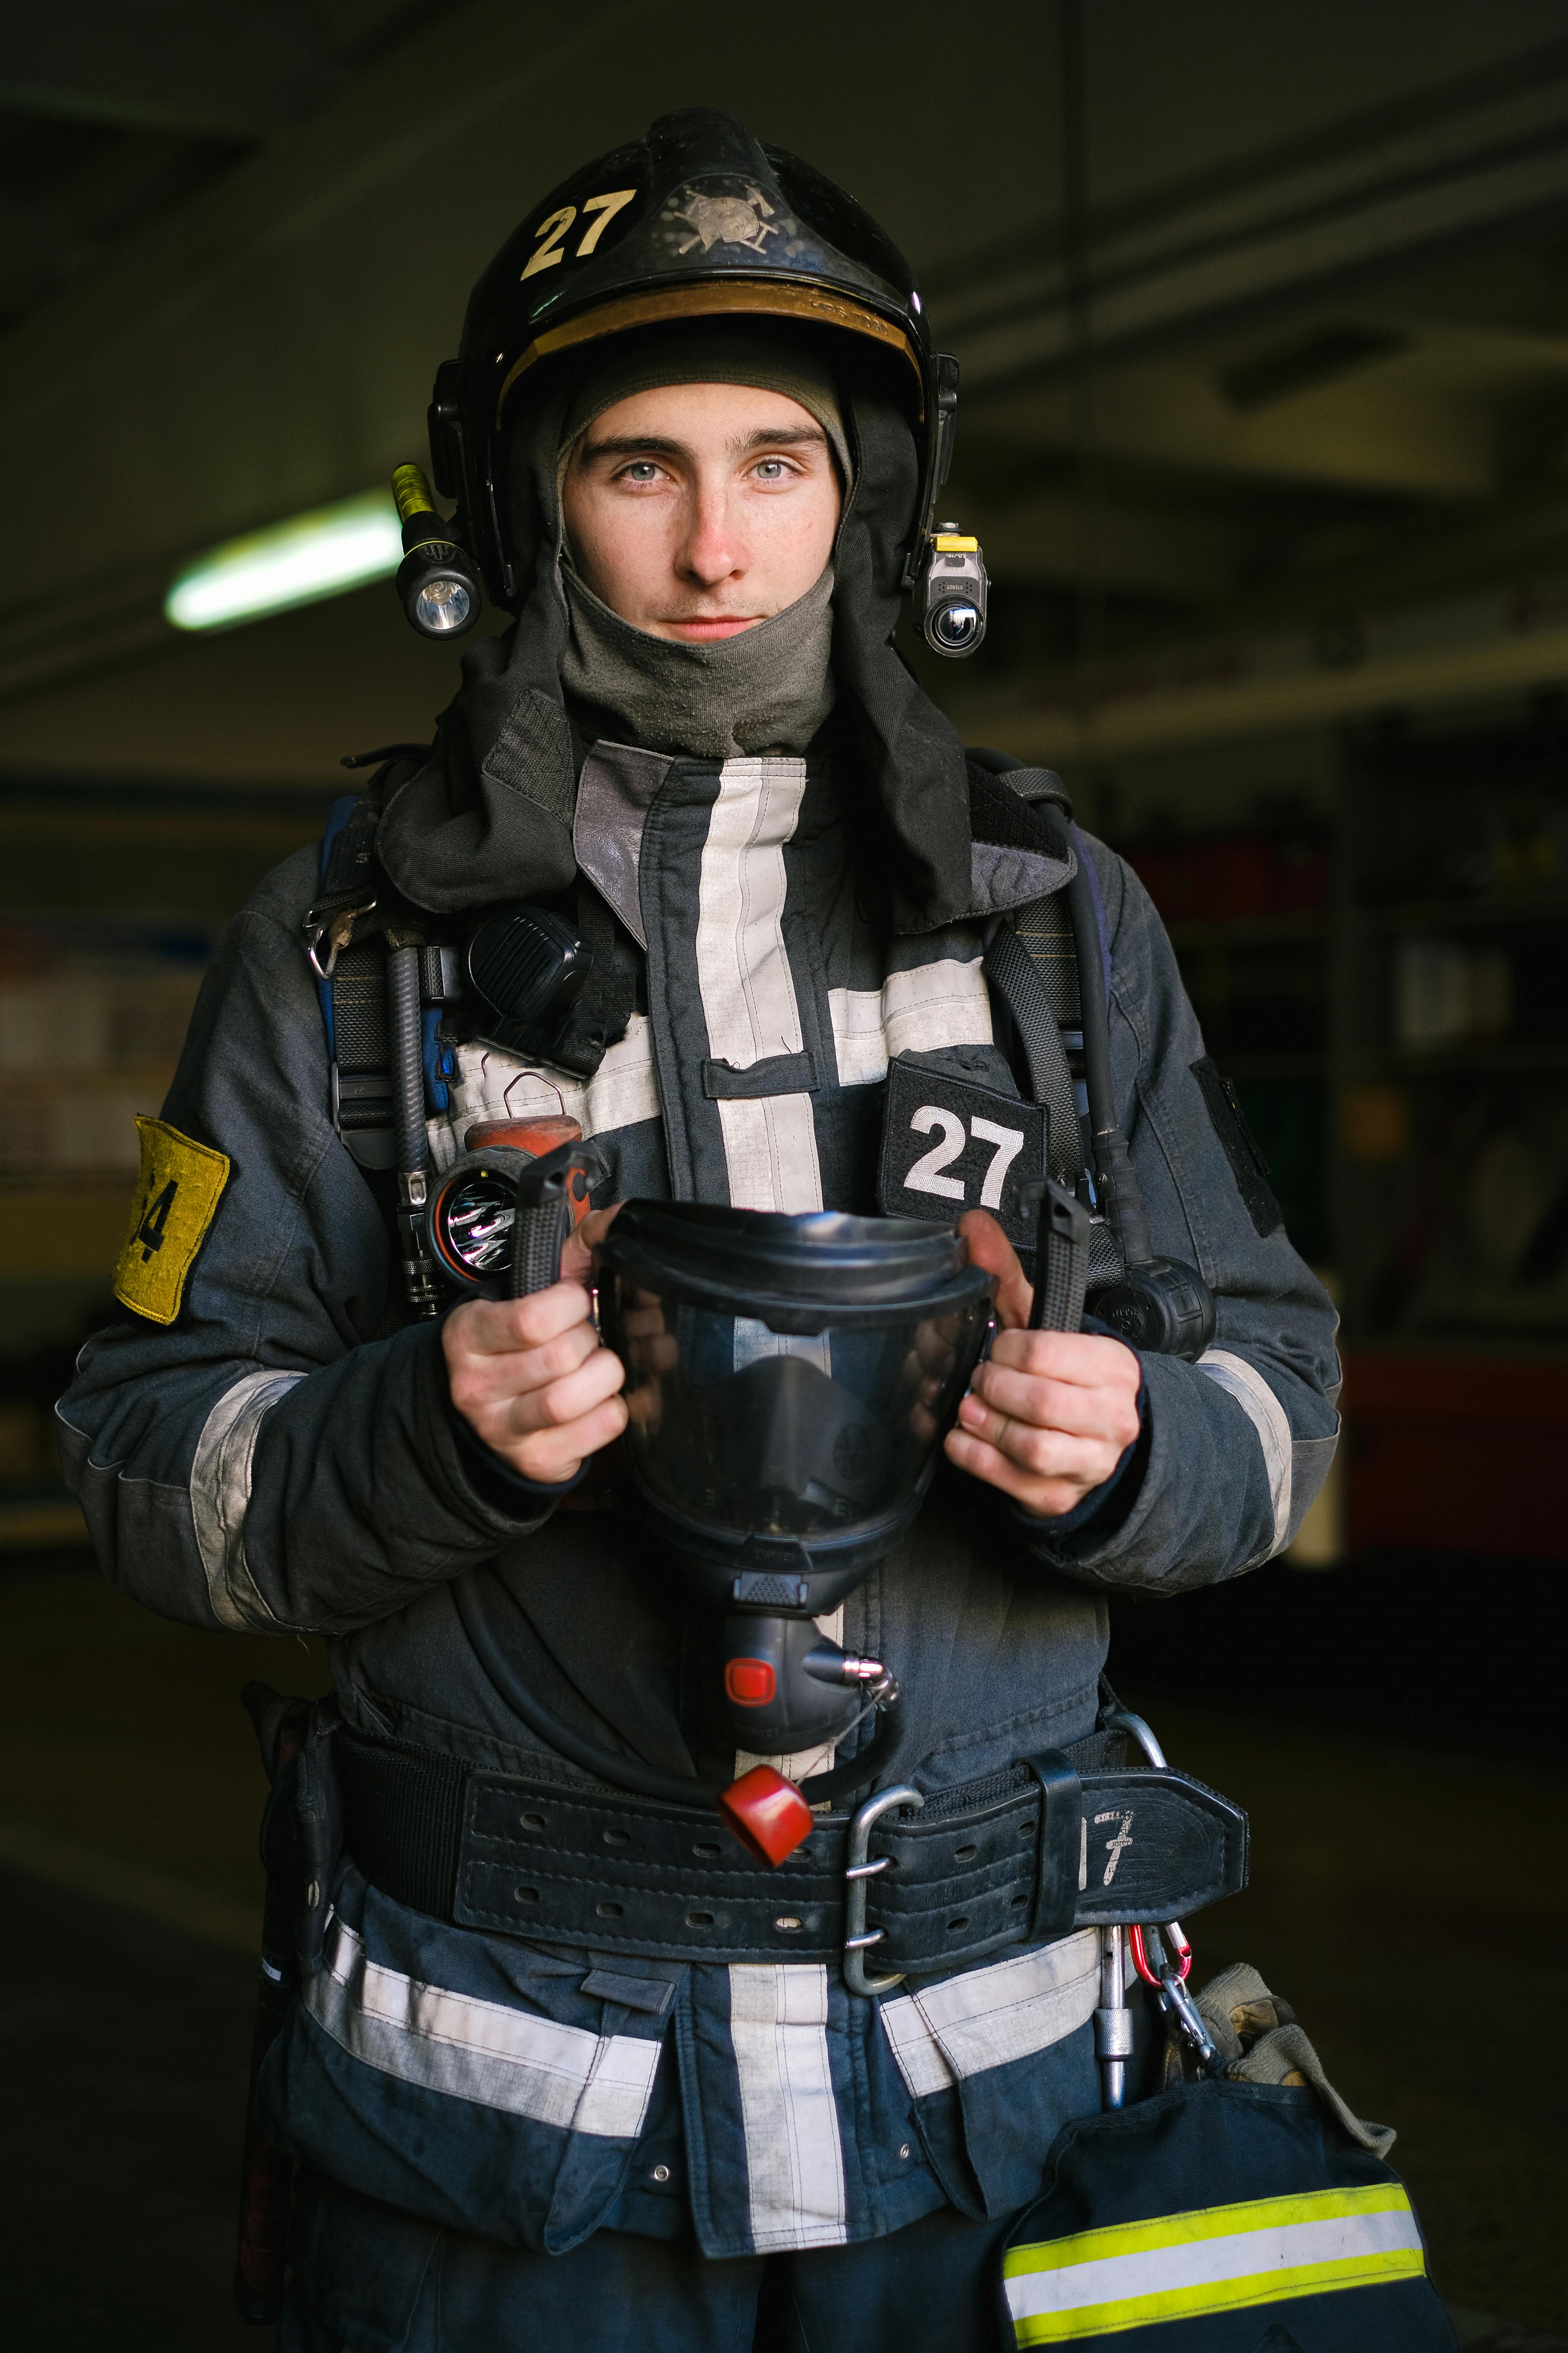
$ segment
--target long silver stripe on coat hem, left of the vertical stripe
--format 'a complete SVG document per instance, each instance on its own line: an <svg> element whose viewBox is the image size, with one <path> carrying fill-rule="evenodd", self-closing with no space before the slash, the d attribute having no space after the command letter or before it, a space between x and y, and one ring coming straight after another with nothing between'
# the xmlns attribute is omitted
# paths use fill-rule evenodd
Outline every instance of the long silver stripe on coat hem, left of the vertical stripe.
<svg viewBox="0 0 1568 2353"><path fill-rule="evenodd" d="M353 2059L428 2092L503 2108L559 2132L630 2141L654 2097L656 2035L592 2035L505 2002L388 1969L343 1920L306 2009Z"/></svg>

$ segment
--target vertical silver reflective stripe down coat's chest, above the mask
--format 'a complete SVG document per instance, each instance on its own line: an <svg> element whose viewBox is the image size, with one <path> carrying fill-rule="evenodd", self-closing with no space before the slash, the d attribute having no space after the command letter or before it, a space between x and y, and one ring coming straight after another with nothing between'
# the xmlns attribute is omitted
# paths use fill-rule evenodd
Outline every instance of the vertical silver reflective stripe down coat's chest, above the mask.
<svg viewBox="0 0 1568 2353"><path fill-rule="evenodd" d="M785 842L806 791L804 760L726 760L708 819L696 918L696 984L708 1052L748 1071L804 1047L783 936ZM809 1094L719 1104L736 1209L823 1207Z"/></svg>

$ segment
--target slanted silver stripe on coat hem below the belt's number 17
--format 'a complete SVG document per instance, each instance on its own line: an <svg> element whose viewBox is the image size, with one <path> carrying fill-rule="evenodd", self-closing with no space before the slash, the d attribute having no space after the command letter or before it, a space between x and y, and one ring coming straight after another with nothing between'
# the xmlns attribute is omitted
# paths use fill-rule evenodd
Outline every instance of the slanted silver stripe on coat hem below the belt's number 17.
<svg viewBox="0 0 1568 2353"><path fill-rule="evenodd" d="M924 2099L959 2075L985 2075L1051 2049L1093 2017L1098 2000L1100 1939L1084 1927L1037 1953L884 2002L882 2033L910 2097Z"/></svg>

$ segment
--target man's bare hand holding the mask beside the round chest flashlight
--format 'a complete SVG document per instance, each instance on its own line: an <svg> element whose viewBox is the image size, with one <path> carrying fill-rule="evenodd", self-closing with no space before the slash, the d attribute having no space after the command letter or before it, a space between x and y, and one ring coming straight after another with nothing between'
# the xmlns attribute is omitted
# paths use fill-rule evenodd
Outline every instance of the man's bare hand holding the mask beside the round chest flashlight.
<svg viewBox="0 0 1568 2353"><path fill-rule="evenodd" d="M567 1259L585 1268L578 1235ZM592 1329L581 1280L529 1299L468 1299L442 1325L442 1348L458 1414L522 1478L576 1478L625 1428L621 1358Z"/></svg>

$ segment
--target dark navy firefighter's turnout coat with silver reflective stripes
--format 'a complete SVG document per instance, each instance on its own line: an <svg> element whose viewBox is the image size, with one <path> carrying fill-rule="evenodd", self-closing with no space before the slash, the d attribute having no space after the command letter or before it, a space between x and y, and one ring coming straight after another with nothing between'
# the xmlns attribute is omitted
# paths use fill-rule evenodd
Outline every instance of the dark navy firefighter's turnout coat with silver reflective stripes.
<svg viewBox="0 0 1568 2353"><path fill-rule="evenodd" d="M1110 1591L1180 1593L1288 1544L1333 1452L1338 1365L1138 880L1051 814L1053 779L966 769L893 656L912 445L875 400L851 409L839 708L806 758L670 758L567 711L545 515L517 631L465 656L435 748L378 781L374 856L430 925L548 899L595 946L557 1064L456 1047L437 1160L477 1118L564 1104L604 1153L597 1200L947 1217L952 1193L907 1184L929 1136L896 1132L907 1108L889 1125L898 1073L919 1073L917 1108L947 1087L985 1089L992 1127L1023 1113L985 944L1013 925L1048 979L1056 894L1088 859L1152 1242L1206 1275L1218 1334L1199 1365L1143 1362L1140 1440L1072 1520L940 1468L846 1602L842 1640L903 1685L898 1779L936 1795L1091 1734ZM552 468L512 492L515 513L545 508ZM550 1708L665 1772L712 1772L689 1628L635 1504L567 1508L517 1480L451 1412L440 1329L407 1320L386 1181L331 1118L301 941L315 892L301 849L223 939L148 1134L186 1207L148 1228L155 1254L127 1252L127 1318L59 1407L103 1572L188 1624L322 1633L360 1734L569 1791L583 1777L510 1715L458 1621L454 1577L491 1562L496 1624ZM969 1205L992 1165L952 1162ZM693 1861L693 1889L705 1873L722 1864ZM1060 2122L1098 2106L1093 1929L865 2000L792 1960L783 1920L764 1960L705 1958L698 1932L649 1960L609 1920L581 1948L456 1927L376 1887L353 1840L322 1904L263 2073L268 2127L425 2226L548 2249L602 2226L696 2231L712 2257L830 2247L943 2202L1020 2207Z"/></svg>

